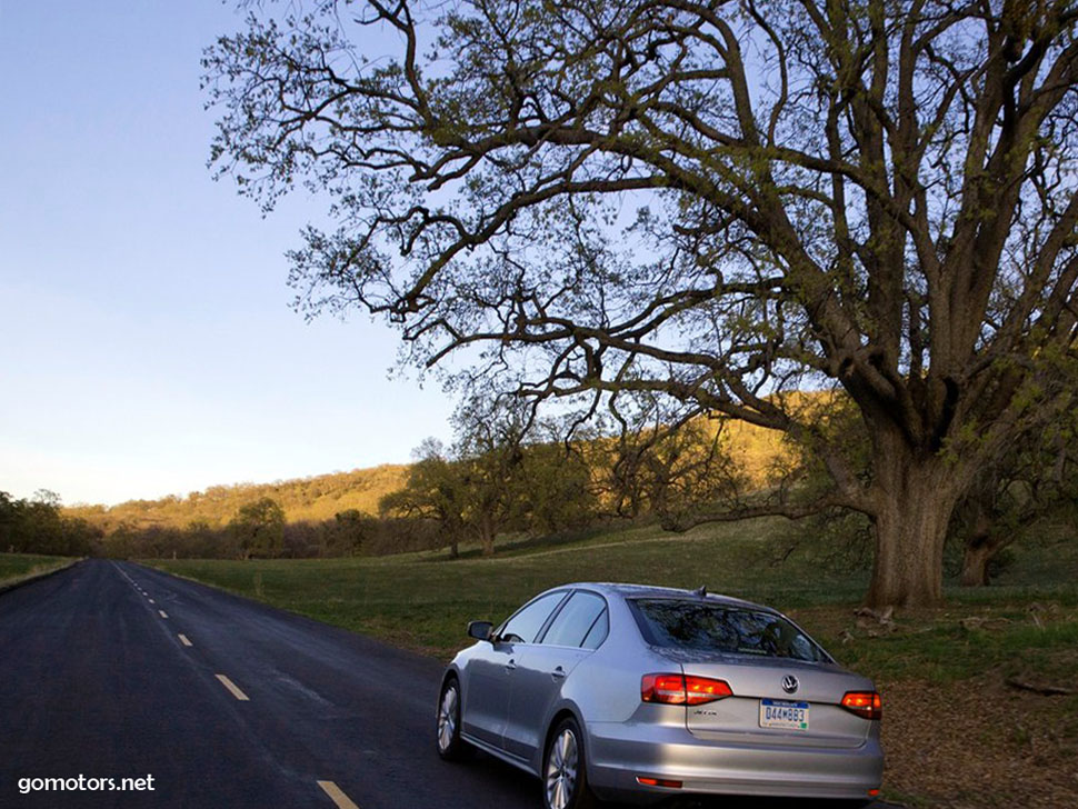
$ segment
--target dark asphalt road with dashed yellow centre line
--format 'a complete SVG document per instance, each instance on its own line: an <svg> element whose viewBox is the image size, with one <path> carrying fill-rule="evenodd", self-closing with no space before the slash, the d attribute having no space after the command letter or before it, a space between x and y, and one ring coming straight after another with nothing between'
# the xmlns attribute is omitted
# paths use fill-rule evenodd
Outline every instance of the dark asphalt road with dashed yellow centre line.
<svg viewBox="0 0 1078 809"><path fill-rule="evenodd" d="M538 809L538 781L507 765L438 758L440 673L318 621L89 560L0 596L0 807ZM80 776L143 789L27 791Z"/></svg>

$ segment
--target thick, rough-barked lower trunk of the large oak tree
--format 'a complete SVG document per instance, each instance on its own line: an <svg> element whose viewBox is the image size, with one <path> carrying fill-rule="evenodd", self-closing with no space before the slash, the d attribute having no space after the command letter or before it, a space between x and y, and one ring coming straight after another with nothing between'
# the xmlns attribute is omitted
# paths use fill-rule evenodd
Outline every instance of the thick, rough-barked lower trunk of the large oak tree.
<svg viewBox="0 0 1078 809"><path fill-rule="evenodd" d="M877 440L872 468L876 558L866 602L936 606L944 598L944 541L961 491L959 470L936 455L918 457L898 436Z"/></svg>

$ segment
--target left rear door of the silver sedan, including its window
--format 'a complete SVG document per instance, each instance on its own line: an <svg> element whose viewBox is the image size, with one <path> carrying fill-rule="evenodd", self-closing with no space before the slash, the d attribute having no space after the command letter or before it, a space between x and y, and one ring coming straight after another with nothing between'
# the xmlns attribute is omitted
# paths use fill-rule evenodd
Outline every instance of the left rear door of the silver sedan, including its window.
<svg viewBox="0 0 1078 809"><path fill-rule="evenodd" d="M606 609L607 602L601 596L577 590L561 606L539 642L517 650L505 730L507 752L526 760L537 756L546 735L547 716L559 701L562 686L577 665L606 637ZM585 639L589 641L587 645Z"/></svg>

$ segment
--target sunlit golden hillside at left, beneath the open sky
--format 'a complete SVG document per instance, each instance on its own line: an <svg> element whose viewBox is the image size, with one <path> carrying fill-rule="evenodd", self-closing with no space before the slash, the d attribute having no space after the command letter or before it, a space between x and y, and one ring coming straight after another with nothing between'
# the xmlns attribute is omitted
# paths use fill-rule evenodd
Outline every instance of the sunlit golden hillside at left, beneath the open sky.
<svg viewBox="0 0 1078 809"><path fill-rule="evenodd" d="M69 517L88 520L107 533L121 523L138 528L187 528L191 522L199 521L217 528L232 519L240 507L259 498L271 497L285 509L289 522L327 520L349 509L377 513L378 501L400 489L407 475L407 466L386 465L273 483L213 486L187 497L129 500L112 507L74 506L63 511Z"/></svg>

